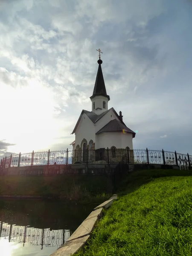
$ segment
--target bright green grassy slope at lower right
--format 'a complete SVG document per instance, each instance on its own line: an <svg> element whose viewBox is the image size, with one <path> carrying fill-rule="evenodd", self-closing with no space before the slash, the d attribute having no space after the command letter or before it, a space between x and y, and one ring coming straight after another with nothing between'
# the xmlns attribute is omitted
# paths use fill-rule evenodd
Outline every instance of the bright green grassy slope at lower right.
<svg viewBox="0 0 192 256"><path fill-rule="evenodd" d="M192 255L190 175L179 170L131 173L93 231L89 247L77 255Z"/></svg>

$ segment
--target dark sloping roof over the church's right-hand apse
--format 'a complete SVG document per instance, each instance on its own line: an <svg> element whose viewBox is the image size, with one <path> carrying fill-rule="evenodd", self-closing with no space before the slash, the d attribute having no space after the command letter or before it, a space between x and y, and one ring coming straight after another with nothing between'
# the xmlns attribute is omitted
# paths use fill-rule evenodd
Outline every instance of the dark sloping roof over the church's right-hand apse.
<svg viewBox="0 0 192 256"><path fill-rule="evenodd" d="M126 125L122 124L120 121L117 119L113 119L108 124L103 126L96 134L99 134L103 131L125 131L125 132L130 132L133 134L133 138L135 137L135 132L129 129Z"/></svg>

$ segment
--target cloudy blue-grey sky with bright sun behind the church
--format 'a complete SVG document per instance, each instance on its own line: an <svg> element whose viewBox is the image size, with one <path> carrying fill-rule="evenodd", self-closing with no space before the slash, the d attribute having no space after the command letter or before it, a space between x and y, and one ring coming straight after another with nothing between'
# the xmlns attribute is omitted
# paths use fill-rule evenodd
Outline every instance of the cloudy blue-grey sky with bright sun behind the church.
<svg viewBox="0 0 192 256"><path fill-rule="evenodd" d="M0 0L0 158L71 148L98 48L134 148L192 154L191 0Z"/></svg>

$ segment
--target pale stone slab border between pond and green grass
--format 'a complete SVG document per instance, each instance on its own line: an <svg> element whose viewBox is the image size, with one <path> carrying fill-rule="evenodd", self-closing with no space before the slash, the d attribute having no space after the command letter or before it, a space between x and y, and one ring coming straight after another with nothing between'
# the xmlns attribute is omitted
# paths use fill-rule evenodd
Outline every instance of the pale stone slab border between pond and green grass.
<svg viewBox="0 0 192 256"><path fill-rule="evenodd" d="M95 207L93 212L81 223L67 242L59 247L55 253L52 253L51 256L71 256L80 248L84 247L85 243L90 238L96 222L102 218L103 208L108 209L115 199L117 199L117 195L113 194L109 200Z"/></svg>

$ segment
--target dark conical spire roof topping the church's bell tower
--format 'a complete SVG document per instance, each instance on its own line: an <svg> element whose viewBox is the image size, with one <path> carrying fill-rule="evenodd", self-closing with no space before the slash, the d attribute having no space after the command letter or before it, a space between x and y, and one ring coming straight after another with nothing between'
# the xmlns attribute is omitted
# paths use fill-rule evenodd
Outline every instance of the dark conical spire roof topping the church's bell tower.
<svg viewBox="0 0 192 256"><path fill-rule="evenodd" d="M102 95L107 97L108 100L110 100L110 97L107 95L106 88L105 88L105 82L104 82L102 68L101 68L102 60L99 58L97 63L99 64L99 67L97 71L95 86L93 89L93 95L90 97L90 99L93 99L93 97L95 96Z"/></svg>

